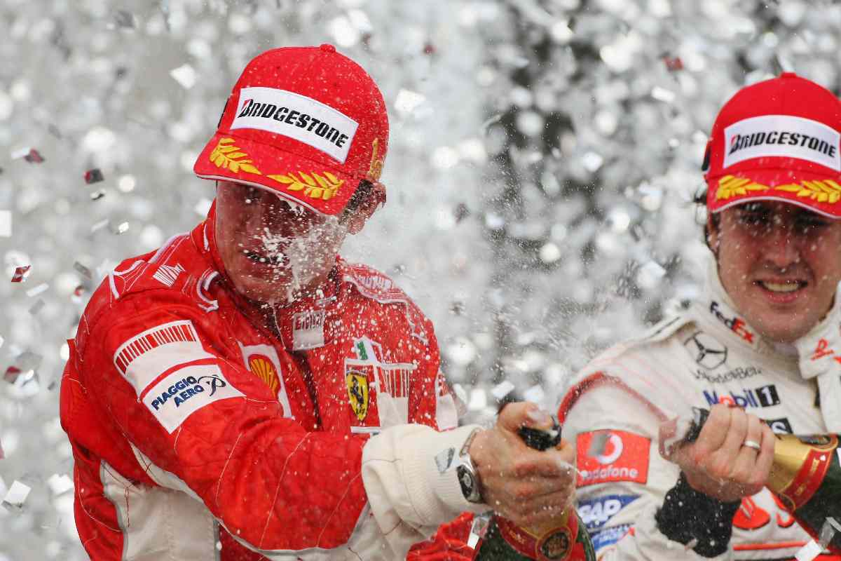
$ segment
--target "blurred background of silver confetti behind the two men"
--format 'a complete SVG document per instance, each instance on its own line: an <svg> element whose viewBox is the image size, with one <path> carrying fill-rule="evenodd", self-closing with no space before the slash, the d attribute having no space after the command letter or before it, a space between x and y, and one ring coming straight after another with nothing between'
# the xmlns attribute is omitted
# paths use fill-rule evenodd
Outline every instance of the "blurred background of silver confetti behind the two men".
<svg viewBox="0 0 841 561"><path fill-rule="evenodd" d="M839 25L828 0L3 0L0 561L87 558L65 341L111 267L203 219L193 161L252 56L329 42L378 82L389 203L343 252L421 305L484 421L698 292L717 109L780 71L838 93Z"/></svg>

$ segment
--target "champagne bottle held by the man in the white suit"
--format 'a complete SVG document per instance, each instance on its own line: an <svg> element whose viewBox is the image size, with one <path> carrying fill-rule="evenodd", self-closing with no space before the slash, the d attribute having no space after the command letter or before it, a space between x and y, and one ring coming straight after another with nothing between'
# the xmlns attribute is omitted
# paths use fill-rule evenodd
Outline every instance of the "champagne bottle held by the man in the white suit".
<svg viewBox="0 0 841 561"><path fill-rule="evenodd" d="M695 419L685 442L696 440L709 415L706 409L696 408L694 412ZM838 435L775 436L774 463L765 486L817 540L828 518L841 521ZM828 548L833 553L841 553L841 532L833 535Z"/></svg>

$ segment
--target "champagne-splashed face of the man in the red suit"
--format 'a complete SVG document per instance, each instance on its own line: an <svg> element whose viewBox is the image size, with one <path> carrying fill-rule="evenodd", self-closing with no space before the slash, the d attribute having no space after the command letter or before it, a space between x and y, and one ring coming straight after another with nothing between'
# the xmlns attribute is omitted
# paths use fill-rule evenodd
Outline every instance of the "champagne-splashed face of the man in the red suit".
<svg viewBox="0 0 841 561"><path fill-rule="evenodd" d="M215 234L237 292L284 304L324 283L347 230L335 216L290 204L266 189L220 182Z"/></svg>

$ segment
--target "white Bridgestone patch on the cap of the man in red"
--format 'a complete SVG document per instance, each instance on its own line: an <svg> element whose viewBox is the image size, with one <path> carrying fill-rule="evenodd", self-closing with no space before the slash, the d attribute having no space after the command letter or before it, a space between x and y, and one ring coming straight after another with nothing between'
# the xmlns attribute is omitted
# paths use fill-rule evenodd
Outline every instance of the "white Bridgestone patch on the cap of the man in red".
<svg viewBox="0 0 841 561"><path fill-rule="evenodd" d="M273 87L243 87L230 129L267 130L345 163L359 124L313 98Z"/></svg>

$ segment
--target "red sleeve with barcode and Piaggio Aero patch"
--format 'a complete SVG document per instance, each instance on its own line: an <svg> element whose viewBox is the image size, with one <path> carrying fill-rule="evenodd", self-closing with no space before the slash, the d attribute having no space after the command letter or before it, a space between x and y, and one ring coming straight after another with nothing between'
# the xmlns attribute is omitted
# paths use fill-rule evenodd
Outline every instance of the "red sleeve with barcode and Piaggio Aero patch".
<svg viewBox="0 0 841 561"><path fill-rule="evenodd" d="M109 310L118 320L87 334L80 365L82 384L140 463L153 464L151 478L198 495L252 548L347 542L366 504L366 437L304 431L265 384L214 352L207 316L144 304Z"/></svg>

